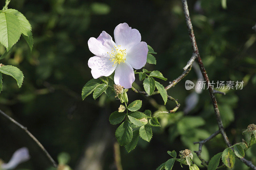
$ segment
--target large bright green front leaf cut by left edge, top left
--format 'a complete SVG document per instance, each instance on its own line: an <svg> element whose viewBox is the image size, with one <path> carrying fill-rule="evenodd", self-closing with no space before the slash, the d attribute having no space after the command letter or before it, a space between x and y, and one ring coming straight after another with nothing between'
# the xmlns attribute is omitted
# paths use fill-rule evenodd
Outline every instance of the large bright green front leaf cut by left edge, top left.
<svg viewBox="0 0 256 170"><path fill-rule="evenodd" d="M20 39L19 19L12 13L0 13L0 42L7 51Z"/></svg>

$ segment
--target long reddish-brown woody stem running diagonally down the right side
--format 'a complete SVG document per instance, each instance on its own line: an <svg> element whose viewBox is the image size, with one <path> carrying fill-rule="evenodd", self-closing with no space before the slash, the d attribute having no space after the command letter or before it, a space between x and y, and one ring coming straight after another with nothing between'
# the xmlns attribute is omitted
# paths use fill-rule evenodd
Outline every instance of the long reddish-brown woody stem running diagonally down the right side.
<svg viewBox="0 0 256 170"><path fill-rule="evenodd" d="M196 38L195 38L194 31L193 31L191 19L190 19L190 16L189 16L187 0L181 0L181 2L182 2L183 12L184 12L187 27L188 27L188 33L189 33L190 41L191 41L192 48L193 48L193 53L197 55L196 61L199 65L199 67L200 67L200 70L201 70L201 73L204 77L204 80L206 81L206 85L209 87L209 93L210 93L210 96L211 96L211 99L212 99L214 113L215 113L215 116L216 116L216 119L217 119L217 123L218 123L218 126L219 126L220 133L221 133L225 143L228 145L228 147L230 147L231 143L230 143L230 141L227 137L227 134L224 130L224 127L223 127L223 123L222 123L222 120L221 120L221 117L220 117L220 111L219 111L219 108L218 108L217 100L214 96L214 92L213 92L212 87L209 86L210 80L208 78L208 75L207 75L206 70L204 68L204 64L202 62L202 59L200 57L200 54L199 54L199 51L198 51L198 48L197 48ZM245 165L247 165L247 166L251 167L252 169L256 170L256 167L252 164L251 161L248 161L244 158L239 158L239 159L242 162L244 162Z"/></svg>

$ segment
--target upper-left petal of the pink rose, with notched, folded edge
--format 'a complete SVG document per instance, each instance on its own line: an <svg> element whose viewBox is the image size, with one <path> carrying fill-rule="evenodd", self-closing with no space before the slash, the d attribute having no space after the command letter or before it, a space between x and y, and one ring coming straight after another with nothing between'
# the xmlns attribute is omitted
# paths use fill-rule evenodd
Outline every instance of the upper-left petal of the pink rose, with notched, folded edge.
<svg viewBox="0 0 256 170"><path fill-rule="evenodd" d="M112 37L108 33L102 31L97 39L91 37L88 40L88 46L89 50L94 55L109 58L108 52L110 52L112 48L116 46L116 43L112 40Z"/></svg>

